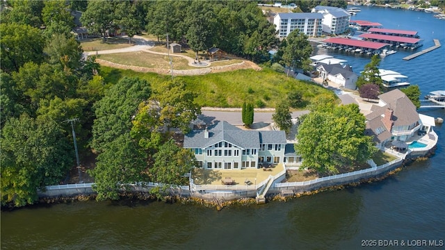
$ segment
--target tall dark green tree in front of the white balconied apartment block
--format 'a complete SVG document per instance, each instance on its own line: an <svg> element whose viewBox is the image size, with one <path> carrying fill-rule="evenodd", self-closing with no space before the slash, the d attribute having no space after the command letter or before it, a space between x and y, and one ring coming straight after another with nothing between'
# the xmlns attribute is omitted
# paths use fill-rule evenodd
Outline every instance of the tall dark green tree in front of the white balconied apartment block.
<svg viewBox="0 0 445 250"><path fill-rule="evenodd" d="M312 46L307 40L307 35L301 33L298 29L292 31L286 38L286 47L282 49L282 60L289 69L309 69L309 56L312 53Z"/></svg>

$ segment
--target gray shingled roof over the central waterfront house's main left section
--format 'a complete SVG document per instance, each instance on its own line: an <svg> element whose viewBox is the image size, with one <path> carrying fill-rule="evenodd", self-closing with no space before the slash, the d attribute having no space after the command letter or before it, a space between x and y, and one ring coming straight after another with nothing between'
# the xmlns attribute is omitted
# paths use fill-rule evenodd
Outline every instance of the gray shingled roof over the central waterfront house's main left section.
<svg viewBox="0 0 445 250"><path fill-rule="evenodd" d="M195 130L184 137L184 148L204 149L218 142L230 142L242 149L259 149L259 132L243 131L228 122L218 122L208 128L209 138L204 138L203 130ZM284 138L284 141L286 139Z"/></svg>

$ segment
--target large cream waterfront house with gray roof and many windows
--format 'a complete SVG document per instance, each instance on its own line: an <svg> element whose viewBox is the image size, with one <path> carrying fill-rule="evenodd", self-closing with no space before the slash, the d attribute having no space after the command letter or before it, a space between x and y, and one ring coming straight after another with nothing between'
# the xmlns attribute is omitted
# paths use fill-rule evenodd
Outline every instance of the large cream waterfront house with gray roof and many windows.
<svg viewBox="0 0 445 250"><path fill-rule="evenodd" d="M184 148L195 153L199 167L204 169L259 168L263 164L301 162L291 146L292 149L286 147L284 131L245 131L228 122L217 122L184 136ZM291 151L286 154L286 149Z"/></svg>

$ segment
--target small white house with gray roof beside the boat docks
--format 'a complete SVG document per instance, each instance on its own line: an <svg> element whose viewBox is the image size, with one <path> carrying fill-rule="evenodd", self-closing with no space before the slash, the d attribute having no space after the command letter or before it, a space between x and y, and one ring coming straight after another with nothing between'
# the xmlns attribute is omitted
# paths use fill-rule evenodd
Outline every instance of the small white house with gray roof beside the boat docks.
<svg viewBox="0 0 445 250"><path fill-rule="evenodd" d="M340 64L325 64L318 63L316 70L319 72L319 76L325 79L337 83L343 88L355 90L357 88L357 79L359 76L353 72L349 65L344 67Z"/></svg>

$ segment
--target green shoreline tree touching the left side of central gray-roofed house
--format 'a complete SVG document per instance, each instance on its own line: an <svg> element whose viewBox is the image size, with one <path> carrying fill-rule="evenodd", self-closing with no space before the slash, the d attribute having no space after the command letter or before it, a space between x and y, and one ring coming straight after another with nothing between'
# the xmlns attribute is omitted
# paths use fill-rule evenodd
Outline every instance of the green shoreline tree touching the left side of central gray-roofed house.
<svg viewBox="0 0 445 250"><path fill-rule="evenodd" d="M152 180L164 185L150 192L160 195L171 186L186 185L188 178L184 178L184 174L196 166L195 155L190 150L178 147L174 140L168 140L154 155L154 165L149 169Z"/></svg>

